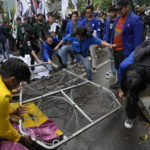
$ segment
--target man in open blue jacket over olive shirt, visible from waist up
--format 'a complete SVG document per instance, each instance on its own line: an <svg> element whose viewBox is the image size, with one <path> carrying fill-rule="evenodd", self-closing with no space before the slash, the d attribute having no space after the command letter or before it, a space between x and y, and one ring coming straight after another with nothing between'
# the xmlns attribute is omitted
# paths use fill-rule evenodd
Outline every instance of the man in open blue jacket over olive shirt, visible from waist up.
<svg viewBox="0 0 150 150"><path fill-rule="evenodd" d="M77 31L77 28L82 26L82 22L78 20L78 12L72 12L72 20L67 23L65 34L71 34Z"/></svg>

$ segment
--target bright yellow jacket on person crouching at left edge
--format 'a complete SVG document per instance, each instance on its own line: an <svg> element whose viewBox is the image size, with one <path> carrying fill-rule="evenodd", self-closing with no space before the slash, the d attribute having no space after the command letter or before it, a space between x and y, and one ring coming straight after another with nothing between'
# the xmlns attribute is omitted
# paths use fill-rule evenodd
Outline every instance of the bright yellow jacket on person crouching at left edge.
<svg viewBox="0 0 150 150"><path fill-rule="evenodd" d="M0 76L0 137L17 142L20 140L21 134L12 127L9 121L9 101L11 99L11 92L7 89Z"/></svg>

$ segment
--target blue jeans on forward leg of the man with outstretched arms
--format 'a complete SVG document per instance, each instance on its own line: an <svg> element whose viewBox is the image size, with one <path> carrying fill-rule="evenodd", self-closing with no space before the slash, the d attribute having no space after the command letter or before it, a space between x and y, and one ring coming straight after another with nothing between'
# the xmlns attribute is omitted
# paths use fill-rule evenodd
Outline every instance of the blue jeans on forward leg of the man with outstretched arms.
<svg viewBox="0 0 150 150"><path fill-rule="evenodd" d="M77 60L82 62L83 66L85 68L85 71L86 71L86 78L91 81L92 80L92 78L91 78L92 73L91 73L90 60L88 59L88 57L83 57L80 54L77 54L76 58L77 58Z"/></svg>

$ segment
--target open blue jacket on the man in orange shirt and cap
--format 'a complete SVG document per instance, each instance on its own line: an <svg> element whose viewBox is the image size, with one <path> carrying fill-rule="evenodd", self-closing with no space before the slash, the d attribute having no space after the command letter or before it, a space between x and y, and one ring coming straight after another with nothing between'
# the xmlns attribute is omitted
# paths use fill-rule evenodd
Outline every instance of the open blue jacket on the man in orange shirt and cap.
<svg viewBox="0 0 150 150"><path fill-rule="evenodd" d="M113 43L115 26L120 17L114 22L114 26L112 29L112 37L111 43ZM124 56L128 57L129 54L136 49L138 45L140 45L143 41L143 22L142 19L135 15L133 12L130 12L124 26L123 26L123 49Z"/></svg>

